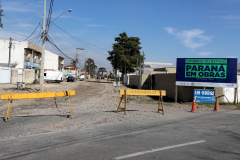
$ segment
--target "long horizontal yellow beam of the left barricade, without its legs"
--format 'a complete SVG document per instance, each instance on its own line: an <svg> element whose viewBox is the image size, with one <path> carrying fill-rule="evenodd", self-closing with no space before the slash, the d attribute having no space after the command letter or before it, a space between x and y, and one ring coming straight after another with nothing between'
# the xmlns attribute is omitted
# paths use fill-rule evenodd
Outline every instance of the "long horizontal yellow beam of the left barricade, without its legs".
<svg viewBox="0 0 240 160"><path fill-rule="evenodd" d="M75 90L72 91L58 91L58 92L42 92L42 93L18 93L18 94L0 94L0 99L35 99L35 98L52 98L75 95Z"/></svg>

